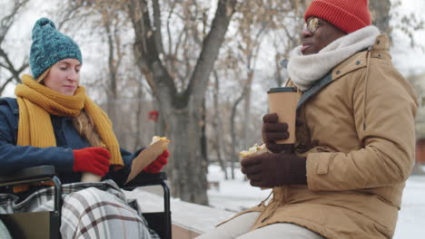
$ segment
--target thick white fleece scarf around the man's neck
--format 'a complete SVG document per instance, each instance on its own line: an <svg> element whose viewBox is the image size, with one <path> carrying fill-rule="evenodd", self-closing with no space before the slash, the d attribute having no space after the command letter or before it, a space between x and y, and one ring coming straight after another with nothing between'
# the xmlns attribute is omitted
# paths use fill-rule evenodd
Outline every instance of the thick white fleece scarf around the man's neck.
<svg viewBox="0 0 425 239"><path fill-rule="evenodd" d="M302 46L296 47L288 62L288 73L293 84L301 91L309 90L315 81L331 72L335 66L354 53L371 47L379 34L380 30L370 25L342 36L316 54L303 55Z"/></svg>

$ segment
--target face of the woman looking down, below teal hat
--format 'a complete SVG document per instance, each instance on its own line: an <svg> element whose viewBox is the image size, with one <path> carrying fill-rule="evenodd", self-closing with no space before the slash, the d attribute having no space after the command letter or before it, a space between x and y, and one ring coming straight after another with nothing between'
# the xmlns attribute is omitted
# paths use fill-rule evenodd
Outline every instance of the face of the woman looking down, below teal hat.
<svg viewBox="0 0 425 239"><path fill-rule="evenodd" d="M47 76L44 78L44 85L58 93L64 95L74 95L80 83L81 63L72 58L56 62Z"/></svg>

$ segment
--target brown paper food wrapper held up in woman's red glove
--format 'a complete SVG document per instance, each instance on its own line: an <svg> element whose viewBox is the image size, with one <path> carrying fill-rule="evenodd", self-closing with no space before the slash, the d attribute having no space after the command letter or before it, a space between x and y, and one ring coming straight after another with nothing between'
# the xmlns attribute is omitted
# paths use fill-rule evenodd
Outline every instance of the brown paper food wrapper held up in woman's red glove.
<svg viewBox="0 0 425 239"><path fill-rule="evenodd" d="M133 159L132 170L130 171L130 175L125 181L125 184L140 174L144 167L150 165L153 160L163 154L163 150L167 149L169 143L169 139L154 136L151 145L147 148L144 148L142 152L140 152L140 154Z"/></svg>

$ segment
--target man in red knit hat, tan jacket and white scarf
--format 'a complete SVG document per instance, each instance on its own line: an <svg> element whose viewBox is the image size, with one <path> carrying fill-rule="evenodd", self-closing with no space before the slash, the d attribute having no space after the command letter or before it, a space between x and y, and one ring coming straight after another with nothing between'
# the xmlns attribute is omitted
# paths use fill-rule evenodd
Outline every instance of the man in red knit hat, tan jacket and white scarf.
<svg viewBox="0 0 425 239"><path fill-rule="evenodd" d="M314 0L288 86L301 90L294 152L287 124L263 117L271 151L244 158L263 202L200 238L391 238L413 165L415 93L392 66L367 0ZM282 102L284 104L284 102ZM264 200L265 201L265 200Z"/></svg>

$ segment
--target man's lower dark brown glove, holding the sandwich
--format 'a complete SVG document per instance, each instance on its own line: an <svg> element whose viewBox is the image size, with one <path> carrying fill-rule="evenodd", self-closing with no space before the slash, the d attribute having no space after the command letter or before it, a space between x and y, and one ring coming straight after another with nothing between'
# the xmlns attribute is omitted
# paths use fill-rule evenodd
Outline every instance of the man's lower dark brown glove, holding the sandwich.
<svg viewBox="0 0 425 239"><path fill-rule="evenodd" d="M306 160L293 154L263 153L243 158L242 173L251 180L252 186L306 185Z"/></svg>

